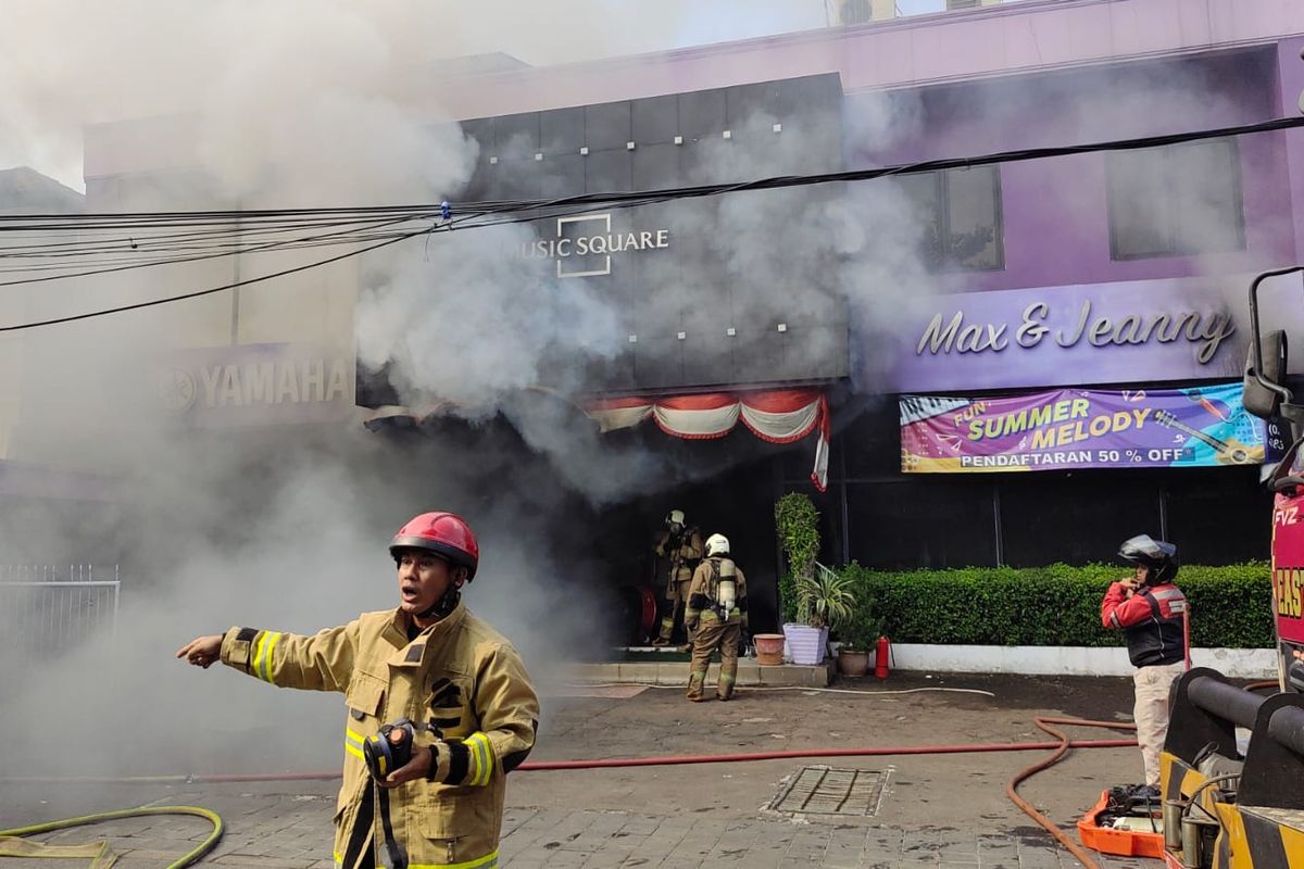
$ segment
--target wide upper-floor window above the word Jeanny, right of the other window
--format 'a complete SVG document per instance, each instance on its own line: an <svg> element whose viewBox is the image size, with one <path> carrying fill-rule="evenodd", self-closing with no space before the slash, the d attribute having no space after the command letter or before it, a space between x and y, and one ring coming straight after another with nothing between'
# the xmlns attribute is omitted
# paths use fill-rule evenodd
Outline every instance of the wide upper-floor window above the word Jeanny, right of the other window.
<svg viewBox="0 0 1304 869"><path fill-rule="evenodd" d="M1112 259L1244 250L1235 139L1111 152L1106 173Z"/></svg>

